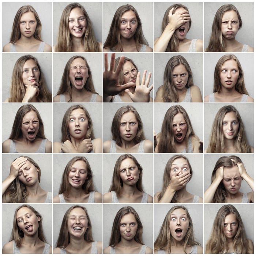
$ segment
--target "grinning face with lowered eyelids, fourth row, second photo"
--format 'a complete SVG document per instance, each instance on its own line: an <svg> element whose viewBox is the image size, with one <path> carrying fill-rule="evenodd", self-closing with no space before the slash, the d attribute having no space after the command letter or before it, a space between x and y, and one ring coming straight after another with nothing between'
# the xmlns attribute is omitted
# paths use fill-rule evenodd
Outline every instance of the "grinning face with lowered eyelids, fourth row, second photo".
<svg viewBox="0 0 256 256"><path fill-rule="evenodd" d="M87 165L83 160L78 160L73 163L68 174L68 183L74 188L81 188L88 180Z"/></svg>

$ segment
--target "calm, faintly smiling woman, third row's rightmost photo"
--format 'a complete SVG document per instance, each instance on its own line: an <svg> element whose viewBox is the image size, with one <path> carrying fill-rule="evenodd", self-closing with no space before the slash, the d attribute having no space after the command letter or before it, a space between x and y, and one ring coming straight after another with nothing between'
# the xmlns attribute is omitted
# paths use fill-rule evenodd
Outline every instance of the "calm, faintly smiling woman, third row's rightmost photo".
<svg viewBox="0 0 256 256"><path fill-rule="evenodd" d="M217 112L206 153L253 153L242 118L234 106L223 106Z"/></svg>

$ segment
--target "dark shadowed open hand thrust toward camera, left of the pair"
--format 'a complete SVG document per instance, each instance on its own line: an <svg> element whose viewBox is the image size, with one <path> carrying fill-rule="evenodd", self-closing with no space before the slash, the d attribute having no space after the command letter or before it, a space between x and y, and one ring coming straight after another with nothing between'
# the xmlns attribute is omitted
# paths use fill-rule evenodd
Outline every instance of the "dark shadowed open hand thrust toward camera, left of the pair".
<svg viewBox="0 0 256 256"><path fill-rule="evenodd" d="M104 65L105 71L103 72L103 93L104 97L114 96L125 89L134 87L134 83L129 82L127 84L120 85L119 84L119 74L124 64L124 56L120 57L119 63L117 65L116 71L114 72L115 66L115 57L116 54L111 54L110 66L108 64L108 54L104 53ZM108 70L109 66L109 70Z"/></svg>

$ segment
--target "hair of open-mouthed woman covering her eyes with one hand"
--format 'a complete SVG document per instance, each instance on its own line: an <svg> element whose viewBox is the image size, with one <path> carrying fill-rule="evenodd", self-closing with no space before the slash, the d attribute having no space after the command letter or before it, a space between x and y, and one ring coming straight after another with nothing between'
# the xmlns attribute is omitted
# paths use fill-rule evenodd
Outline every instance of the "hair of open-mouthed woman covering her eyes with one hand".
<svg viewBox="0 0 256 256"><path fill-rule="evenodd" d="M169 19L168 19L168 15L169 12L172 8L174 8L173 10L173 14L175 13L175 11L178 8L184 8L186 11L188 11L188 7L186 7L183 4L173 4L171 5L169 8L167 8L167 10L165 11L165 15L163 15L163 21L162 21L162 33L165 30L165 27L168 25L169 23ZM190 30L191 27L191 20L189 20L189 27L188 27L188 31ZM165 52L178 52L178 46L179 46L179 39L177 38L177 36L175 34L172 35L167 48L165 50Z"/></svg>

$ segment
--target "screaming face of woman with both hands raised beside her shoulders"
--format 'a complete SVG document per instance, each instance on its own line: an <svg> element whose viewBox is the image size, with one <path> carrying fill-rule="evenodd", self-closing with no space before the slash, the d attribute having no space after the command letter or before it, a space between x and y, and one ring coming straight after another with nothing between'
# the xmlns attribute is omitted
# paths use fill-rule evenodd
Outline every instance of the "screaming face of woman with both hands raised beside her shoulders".
<svg viewBox="0 0 256 256"><path fill-rule="evenodd" d="M188 126L182 113L178 113L173 117L172 129L175 141L177 143L183 142L188 131Z"/></svg>

